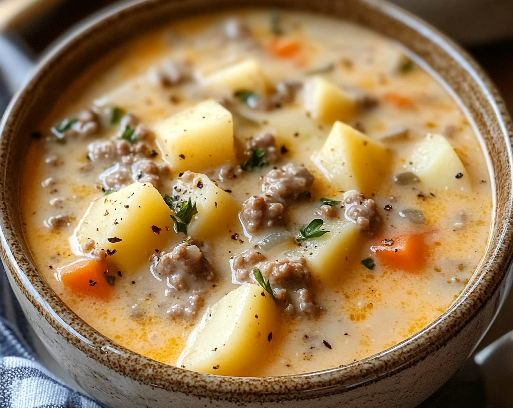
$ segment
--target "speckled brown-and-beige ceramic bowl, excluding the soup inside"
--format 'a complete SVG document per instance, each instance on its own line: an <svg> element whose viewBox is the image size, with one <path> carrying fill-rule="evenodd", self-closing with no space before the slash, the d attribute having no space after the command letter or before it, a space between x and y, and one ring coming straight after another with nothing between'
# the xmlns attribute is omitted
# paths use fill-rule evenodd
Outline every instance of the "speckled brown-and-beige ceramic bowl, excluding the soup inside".
<svg viewBox="0 0 513 408"><path fill-rule="evenodd" d="M459 99L482 137L494 181L494 221L484 260L460 297L422 332L378 355L319 373L279 378L198 374L136 355L95 332L42 279L20 226L19 173L31 125L88 63L157 24L198 10L240 7L238 0L149 0L110 11L66 38L38 66L2 121L1 256L17 299L53 357L91 396L127 406L412 407L435 392L475 348L511 281L513 257L513 126L503 100L481 68L418 18L371 0L253 0L340 16L397 39L422 58Z"/></svg>

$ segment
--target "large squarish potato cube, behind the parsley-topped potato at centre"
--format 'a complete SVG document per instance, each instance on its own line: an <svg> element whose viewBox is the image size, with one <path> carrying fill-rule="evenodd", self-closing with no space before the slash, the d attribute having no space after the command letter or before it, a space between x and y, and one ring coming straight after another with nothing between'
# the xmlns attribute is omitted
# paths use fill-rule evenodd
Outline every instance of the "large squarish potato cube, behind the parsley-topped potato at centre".
<svg viewBox="0 0 513 408"><path fill-rule="evenodd" d="M215 100L163 119L154 131L162 157L177 171L201 171L235 160L233 118Z"/></svg>

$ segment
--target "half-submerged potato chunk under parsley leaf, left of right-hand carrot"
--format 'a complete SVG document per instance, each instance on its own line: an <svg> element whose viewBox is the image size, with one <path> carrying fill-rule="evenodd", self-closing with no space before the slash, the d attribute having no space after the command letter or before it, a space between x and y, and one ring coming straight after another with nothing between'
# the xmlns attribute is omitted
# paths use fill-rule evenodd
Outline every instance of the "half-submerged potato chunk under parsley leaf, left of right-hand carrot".
<svg viewBox="0 0 513 408"><path fill-rule="evenodd" d="M356 224L345 219L326 222L323 229L329 232L304 241L297 251L306 259L313 279L333 285L358 261L362 239Z"/></svg>

